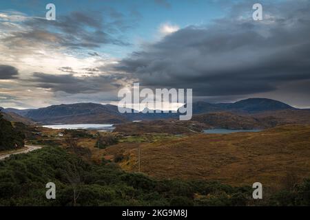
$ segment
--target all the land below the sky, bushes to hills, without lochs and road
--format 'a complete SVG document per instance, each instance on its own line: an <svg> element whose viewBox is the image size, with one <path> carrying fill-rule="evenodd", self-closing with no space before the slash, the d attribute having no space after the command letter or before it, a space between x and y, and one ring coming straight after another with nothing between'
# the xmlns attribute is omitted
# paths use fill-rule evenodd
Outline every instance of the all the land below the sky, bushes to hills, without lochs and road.
<svg viewBox="0 0 310 220"><path fill-rule="evenodd" d="M132 122L141 119L142 113L118 118L110 106L109 111L98 104L88 106L91 109L85 110L83 104L78 109L74 109L75 104L4 109L0 118L2 153L15 151L15 142L43 148L0 161L1 205L310 203L308 109L265 99L229 105L200 102L194 104L196 113L190 121L159 114L158 118L143 115L142 121ZM103 109L109 117L103 117ZM92 117L87 120L90 110ZM61 119L65 119L64 124L91 123L97 114L102 116L98 122L117 122L115 129L106 132L41 126ZM262 131L203 133L214 128ZM54 201L45 198L49 181L59 189ZM264 199L260 201L251 197L251 184L257 181L264 187Z"/></svg>

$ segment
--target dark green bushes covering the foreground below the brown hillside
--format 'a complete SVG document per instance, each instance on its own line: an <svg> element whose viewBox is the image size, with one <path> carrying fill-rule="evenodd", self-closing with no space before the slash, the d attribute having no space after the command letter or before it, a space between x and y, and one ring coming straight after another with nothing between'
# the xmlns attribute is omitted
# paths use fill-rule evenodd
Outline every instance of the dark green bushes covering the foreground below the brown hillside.
<svg viewBox="0 0 310 220"><path fill-rule="evenodd" d="M56 184L46 199L45 184ZM75 192L75 199L74 199ZM116 164L88 164L62 148L45 147L0 162L0 206L247 206L252 188L217 182L155 180L125 173ZM310 203L310 181L266 204ZM261 203L260 203L261 204Z"/></svg>

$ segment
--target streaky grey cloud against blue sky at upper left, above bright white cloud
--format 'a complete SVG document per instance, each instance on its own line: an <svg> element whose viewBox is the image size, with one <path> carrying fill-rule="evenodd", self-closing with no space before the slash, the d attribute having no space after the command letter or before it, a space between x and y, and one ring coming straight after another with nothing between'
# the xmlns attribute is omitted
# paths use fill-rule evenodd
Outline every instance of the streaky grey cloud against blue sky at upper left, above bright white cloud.
<svg viewBox="0 0 310 220"><path fill-rule="evenodd" d="M95 48L106 44L130 45L122 38L122 34L135 25L136 19L128 18L121 13L117 14L112 9L103 11L70 12L67 15L60 15L56 21L28 18L23 22L25 30L11 33L12 36L4 41L11 42L12 46L17 42L23 45L25 42L48 43L53 47L74 49Z"/></svg>

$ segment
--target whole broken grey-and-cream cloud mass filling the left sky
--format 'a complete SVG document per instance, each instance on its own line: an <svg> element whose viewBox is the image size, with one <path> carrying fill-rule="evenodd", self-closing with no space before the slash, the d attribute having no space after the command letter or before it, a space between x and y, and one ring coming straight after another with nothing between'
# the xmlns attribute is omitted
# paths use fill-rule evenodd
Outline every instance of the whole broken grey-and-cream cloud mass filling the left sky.
<svg viewBox="0 0 310 220"><path fill-rule="evenodd" d="M56 21L3 12L0 19L0 105L41 107L90 99L93 102L114 100L122 77L97 69L96 62L101 65L110 60L96 51L103 50L101 47L105 45L130 45L125 32L136 26L141 15L135 10L98 10L85 7L79 12L56 14ZM92 59L87 60L87 56ZM66 58L68 63L63 62ZM81 63L74 63L76 67L72 66L73 62ZM57 66L57 63L63 64Z"/></svg>

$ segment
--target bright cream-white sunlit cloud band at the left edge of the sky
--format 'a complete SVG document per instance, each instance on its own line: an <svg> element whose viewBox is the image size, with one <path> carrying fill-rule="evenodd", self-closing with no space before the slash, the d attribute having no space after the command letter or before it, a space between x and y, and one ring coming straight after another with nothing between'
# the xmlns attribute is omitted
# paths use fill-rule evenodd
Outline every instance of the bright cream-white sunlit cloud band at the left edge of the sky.
<svg viewBox="0 0 310 220"><path fill-rule="evenodd" d="M94 69L117 61L116 58L108 56L90 56L87 50L80 53L66 47L26 40L23 37L14 38L12 33L25 32L17 21L25 21L28 18L18 12L0 12L0 29L3 30L0 32L0 64L16 67L21 78L28 78L32 72L63 74L59 71L61 67L70 67L75 75L81 76L87 74L85 69ZM37 34L41 34L41 38L49 42L56 41L52 34L45 32Z"/></svg>

